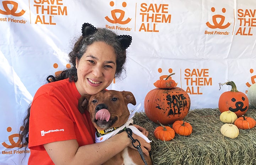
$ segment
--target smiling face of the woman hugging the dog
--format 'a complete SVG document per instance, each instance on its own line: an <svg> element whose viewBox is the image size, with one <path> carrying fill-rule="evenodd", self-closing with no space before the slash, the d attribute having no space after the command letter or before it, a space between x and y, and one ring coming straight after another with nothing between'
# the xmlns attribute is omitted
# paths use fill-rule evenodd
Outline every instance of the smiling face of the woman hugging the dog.
<svg viewBox="0 0 256 165"><path fill-rule="evenodd" d="M88 46L80 60L76 59L78 92L96 94L107 88L116 72L116 54L112 46L95 42Z"/></svg>

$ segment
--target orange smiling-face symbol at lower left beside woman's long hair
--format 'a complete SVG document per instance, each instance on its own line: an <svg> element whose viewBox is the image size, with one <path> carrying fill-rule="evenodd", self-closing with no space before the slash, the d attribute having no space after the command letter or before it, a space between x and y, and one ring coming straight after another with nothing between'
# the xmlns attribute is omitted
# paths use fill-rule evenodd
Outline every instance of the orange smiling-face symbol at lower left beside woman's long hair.
<svg viewBox="0 0 256 165"><path fill-rule="evenodd" d="M12 131L12 128L11 127L8 127L7 129L7 132L11 132ZM23 131L24 130L24 127L20 127L20 130ZM18 137L18 141L15 142L14 141L14 138ZM18 147L18 148L21 148L21 147L24 147L23 144L20 144L21 143L21 139L20 139L20 134L18 133L15 133L15 134L11 134L9 137L9 142L11 143L11 145L3 142L2 145L5 147L5 148L14 148L14 147Z"/></svg>

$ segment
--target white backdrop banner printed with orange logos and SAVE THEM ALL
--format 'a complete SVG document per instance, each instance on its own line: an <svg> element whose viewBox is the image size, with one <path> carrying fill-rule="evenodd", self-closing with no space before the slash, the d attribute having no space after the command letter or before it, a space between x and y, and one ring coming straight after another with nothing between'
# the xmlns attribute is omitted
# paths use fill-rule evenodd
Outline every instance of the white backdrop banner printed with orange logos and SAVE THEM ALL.
<svg viewBox="0 0 256 165"><path fill-rule="evenodd" d="M218 107L231 89L219 82L244 93L255 83L255 15L255 0L1 0L0 164L27 164L18 145L24 112L48 75L70 67L83 23L132 36L124 79L109 89L143 105L153 83L175 73L193 110Z"/></svg>

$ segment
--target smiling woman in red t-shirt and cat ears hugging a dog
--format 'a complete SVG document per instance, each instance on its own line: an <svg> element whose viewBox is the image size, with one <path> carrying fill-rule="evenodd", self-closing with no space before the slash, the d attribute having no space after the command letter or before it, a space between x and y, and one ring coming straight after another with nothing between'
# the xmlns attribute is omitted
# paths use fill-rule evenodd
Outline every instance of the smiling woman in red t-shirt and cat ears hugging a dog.
<svg viewBox="0 0 256 165"><path fill-rule="evenodd" d="M118 36L83 24L82 36L69 53L72 67L47 78L50 83L37 90L24 119L21 137L23 144L28 137L28 165L100 165L125 147L134 148L126 132L94 143L95 128L89 114L81 114L77 107L81 95L105 90L121 75L130 44L129 35ZM136 127L148 136L144 128ZM149 155L150 144L135 134L133 137Z"/></svg>

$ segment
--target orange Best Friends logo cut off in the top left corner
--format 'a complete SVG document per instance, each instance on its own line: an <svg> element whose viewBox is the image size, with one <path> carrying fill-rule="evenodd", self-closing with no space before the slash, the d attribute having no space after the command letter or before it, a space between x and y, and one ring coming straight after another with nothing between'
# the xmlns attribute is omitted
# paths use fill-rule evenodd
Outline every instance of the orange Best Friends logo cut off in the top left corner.
<svg viewBox="0 0 256 165"><path fill-rule="evenodd" d="M1 10L3 7L4 10ZM15 16L20 17L22 16L26 11L23 9L19 9L19 5L15 1L2 1L2 7L0 5L0 14L6 15L6 16ZM0 21L2 22L13 22L13 23L26 23L25 20L18 20L11 17L4 17L0 18Z"/></svg>

